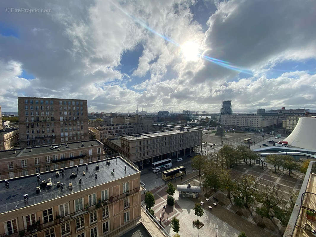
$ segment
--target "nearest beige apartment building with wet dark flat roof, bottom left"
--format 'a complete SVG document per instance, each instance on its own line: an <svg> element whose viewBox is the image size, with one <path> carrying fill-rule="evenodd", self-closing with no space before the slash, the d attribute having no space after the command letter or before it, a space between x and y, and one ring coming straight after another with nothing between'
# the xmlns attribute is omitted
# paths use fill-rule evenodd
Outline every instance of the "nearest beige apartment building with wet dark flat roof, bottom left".
<svg viewBox="0 0 316 237"><path fill-rule="evenodd" d="M0 182L0 233L99 237L124 234L141 216L140 171L121 156Z"/></svg>

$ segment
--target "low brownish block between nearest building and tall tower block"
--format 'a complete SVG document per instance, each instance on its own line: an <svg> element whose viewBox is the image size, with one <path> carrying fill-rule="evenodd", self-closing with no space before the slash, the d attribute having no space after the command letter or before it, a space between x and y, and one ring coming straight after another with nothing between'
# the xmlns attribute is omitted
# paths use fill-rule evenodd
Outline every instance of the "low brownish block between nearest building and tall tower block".
<svg viewBox="0 0 316 237"><path fill-rule="evenodd" d="M49 172L104 159L97 140L0 151L0 179Z"/></svg>

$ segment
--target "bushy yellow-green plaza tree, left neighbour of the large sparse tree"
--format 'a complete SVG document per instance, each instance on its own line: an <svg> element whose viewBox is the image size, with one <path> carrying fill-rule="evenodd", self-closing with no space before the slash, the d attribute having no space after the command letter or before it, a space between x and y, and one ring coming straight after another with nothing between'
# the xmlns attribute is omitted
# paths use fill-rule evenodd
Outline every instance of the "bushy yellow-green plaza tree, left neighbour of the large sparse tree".
<svg viewBox="0 0 316 237"><path fill-rule="evenodd" d="M248 204L254 201L254 196L259 185L258 179L250 175L243 175L239 178L235 178L235 182L236 190L234 191L234 201L236 205L244 204L245 207L248 207Z"/></svg>

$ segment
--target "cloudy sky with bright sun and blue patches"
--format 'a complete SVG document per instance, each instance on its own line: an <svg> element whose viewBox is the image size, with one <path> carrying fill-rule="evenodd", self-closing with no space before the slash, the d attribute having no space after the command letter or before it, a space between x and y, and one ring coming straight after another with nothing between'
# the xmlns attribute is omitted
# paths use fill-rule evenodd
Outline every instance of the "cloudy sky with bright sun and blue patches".
<svg viewBox="0 0 316 237"><path fill-rule="evenodd" d="M314 0L1 1L0 106L89 112L316 108Z"/></svg>

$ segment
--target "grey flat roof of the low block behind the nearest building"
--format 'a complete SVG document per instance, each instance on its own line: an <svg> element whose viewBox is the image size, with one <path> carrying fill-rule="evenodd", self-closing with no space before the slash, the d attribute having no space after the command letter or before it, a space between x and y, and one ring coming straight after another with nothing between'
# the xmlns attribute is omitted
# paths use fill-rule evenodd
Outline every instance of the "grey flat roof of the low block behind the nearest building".
<svg viewBox="0 0 316 237"><path fill-rule="evenodd" d="M72 142L72 143L61 143L61 144L54 144L52 145L55 149L51 149L51 145L47 146L35 146L35 147L27 147L21 149L13 149L13 150L4 150L0 151L0 159L1 158L10 158L10 157L22 157L27 155L39 155L42 153L55 153L56 151L67 151L71 149L76 149L82 147L90 147L91 144L93 146L103 145L103 143L99 142L98 140L87 140L87 141L80 141L80 142ZM60 146L60 147L59 147ZM32 151L31 151L32 149ZM15 152L16 151L16 152Z"/></svg>

